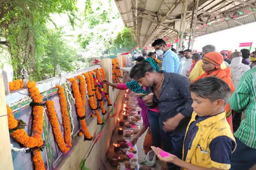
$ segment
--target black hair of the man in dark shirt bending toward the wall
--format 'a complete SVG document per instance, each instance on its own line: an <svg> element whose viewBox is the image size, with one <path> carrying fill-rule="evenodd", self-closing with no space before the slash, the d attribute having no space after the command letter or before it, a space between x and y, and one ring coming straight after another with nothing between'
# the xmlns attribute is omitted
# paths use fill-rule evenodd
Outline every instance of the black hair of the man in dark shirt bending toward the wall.
<svg viewBox="0 0 256 170"><path fill-rule="evenodd" d="M140 63L132 67L130 72L130 77L136 80L141 77L144 77L146 72L153 72L153 71L154 71L154 68L147 61L141 61Z"/></svg>

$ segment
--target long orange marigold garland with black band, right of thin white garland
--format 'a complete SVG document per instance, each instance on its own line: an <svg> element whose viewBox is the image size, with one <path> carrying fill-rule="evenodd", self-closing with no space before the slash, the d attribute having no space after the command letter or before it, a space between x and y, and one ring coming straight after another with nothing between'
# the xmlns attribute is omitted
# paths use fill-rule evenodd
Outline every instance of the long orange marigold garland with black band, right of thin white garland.
<svg viewBox="0 0 256 170"><path fill-rule="evenodd" d="M80 121L80 126L82 129L82 132L85 135L85 140L92 140L92 136L90 134L90 132L88 131L86 122L85 122L85 108L83 107L82 104L82 99L81 99L81 95L79 92L79 88L77 85L77 81L74 78L70 78L68 79L71 82L71 86L72 86L72 91L74 94L74 98L76 100L75 106L76 106L76 113L79 117L79 121ZM84 119L82 119L84 118Z"/></svg>

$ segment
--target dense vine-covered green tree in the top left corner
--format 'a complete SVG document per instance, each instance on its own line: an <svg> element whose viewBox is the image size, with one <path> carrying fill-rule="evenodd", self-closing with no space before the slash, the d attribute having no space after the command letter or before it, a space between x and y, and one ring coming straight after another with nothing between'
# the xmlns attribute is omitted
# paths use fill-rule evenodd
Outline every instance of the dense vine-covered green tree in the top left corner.
<svg viewBox="0 0 256 170"><path fill-rule="evenodd" d="M51 13L66 12L74 24L76 0L7 0L0 2L1 46L8 47L14 79L20 78L24 67L30 79L40 80L40 57L47 37L43 34Z"/></svg>

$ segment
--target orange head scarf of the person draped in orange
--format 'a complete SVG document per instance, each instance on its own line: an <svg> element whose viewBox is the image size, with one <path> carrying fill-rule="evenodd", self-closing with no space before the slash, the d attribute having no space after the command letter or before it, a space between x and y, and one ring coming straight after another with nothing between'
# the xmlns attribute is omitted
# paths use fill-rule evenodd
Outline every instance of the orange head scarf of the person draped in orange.
<svg viewBox="0 0 256 170"><path fill-rule="evenodd" d="M204 55L203 61L214 64L216 69L220 69L220 65L223 62L223 56L218 52L208 52Z"/></svg>

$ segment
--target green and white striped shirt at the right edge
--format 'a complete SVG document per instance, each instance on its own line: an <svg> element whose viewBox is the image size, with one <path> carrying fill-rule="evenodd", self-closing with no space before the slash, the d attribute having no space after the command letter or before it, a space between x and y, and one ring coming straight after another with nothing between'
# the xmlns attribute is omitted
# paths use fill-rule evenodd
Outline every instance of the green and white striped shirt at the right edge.
<svg viewBox="0 0 256 170"><path fill-rule="evenodd" d="M256 149L256 68L244 73L229 104L232 110L243 111L245 115L234 135Z"/></svg>

